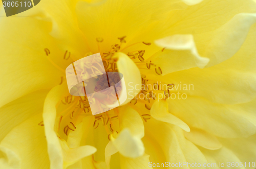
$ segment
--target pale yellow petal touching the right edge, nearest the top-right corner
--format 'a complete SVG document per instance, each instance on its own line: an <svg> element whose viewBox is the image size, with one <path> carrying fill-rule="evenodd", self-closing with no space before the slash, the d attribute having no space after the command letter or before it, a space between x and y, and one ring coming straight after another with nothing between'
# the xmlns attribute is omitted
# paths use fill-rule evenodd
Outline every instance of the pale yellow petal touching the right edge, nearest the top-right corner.
<svg viewBox="0 0 256 169"><path fill-rule="evenodd" d="M216 30L205 53L205 56L210 59L207 67L219 64L236 54L255 22L256 14L241 13Z"/></svg>

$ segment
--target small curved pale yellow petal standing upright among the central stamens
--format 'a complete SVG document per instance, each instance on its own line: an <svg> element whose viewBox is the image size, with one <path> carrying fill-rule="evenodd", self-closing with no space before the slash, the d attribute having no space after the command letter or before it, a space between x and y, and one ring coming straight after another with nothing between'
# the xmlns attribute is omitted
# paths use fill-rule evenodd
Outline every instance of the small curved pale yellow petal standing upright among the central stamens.
<svg viewBox="0 0 256 169"><path fill-rule="evenodd" d="M123 75L126 86L127 99L122 104L129 103L141 89L141 75L140 70L136 64L125 54L116 53L115 57L118 58L117 68Z"/></svg>

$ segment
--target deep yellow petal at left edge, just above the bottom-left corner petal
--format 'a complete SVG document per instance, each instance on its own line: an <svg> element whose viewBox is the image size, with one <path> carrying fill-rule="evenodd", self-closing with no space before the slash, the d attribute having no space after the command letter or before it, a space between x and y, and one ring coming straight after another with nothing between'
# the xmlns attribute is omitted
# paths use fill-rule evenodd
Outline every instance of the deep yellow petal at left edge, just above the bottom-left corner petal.
<svg viewBox="0 0 256 169"><path fill-rule="evenodd" d="M8 103L0 108L0 141L15 126L23 123L32 115L41 113L49 90L38 90ZM39 122L38 122L39 123Z"/></svg>

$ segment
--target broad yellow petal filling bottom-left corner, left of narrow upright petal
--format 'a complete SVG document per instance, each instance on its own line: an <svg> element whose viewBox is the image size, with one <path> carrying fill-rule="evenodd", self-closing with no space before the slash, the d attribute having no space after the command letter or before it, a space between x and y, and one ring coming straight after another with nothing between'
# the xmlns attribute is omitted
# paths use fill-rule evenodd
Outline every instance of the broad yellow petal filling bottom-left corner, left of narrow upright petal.
<svg viewBox="0 0 256 169"><path fill-rule="evenodd" d="M49 168L44 127L38 125L41 121L42 115L38 113L16 126L2 140L0 146L15 153L7 153L7 158L10 158L8 160L12 161L10 165L20 165L20 168ZM15 156L18 156L19 162L15 160Z"/></svg>

